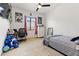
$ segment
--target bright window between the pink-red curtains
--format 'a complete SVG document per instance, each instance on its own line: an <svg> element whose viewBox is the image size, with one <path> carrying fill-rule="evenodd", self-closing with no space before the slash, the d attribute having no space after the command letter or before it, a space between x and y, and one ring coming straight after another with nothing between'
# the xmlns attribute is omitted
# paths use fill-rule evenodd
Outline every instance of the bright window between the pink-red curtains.
<svg viewBox="0 0 79 59"><path fill-rule="evenodd" d="M34 30L35 29L35 18L27 17L27 29Z"/></svg>

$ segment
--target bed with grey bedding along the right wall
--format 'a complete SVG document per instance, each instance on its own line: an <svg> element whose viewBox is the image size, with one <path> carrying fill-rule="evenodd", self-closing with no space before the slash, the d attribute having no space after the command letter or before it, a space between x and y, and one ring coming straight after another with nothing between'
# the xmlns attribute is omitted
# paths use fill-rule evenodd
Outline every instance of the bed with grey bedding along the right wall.
<svg viewBox="0 0 79 59"><path fill-rule="evenodd" d="M50 46L68 56L79 56L79 44L71 41L74 37L54 35L44 39L44 45Z"/></svg>

